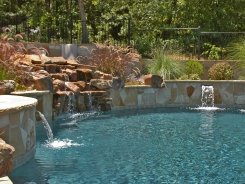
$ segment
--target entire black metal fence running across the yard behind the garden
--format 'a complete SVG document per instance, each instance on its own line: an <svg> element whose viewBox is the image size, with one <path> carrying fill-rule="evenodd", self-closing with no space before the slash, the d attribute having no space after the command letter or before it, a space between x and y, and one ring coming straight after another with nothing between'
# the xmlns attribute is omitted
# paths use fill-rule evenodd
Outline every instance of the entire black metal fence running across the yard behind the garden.
<svg viewBox="0 0 245 184"><path fill-rule="evenodd" d="M204 32L197 28L163 28L139 30L132 28L130 18L96 19L88 22L90 42L112 45L131 45L140 53L150 55L156 44L169 42L171 49L178 51L177 59L224 59L226 47L245 37L245 32ZM0 22L0 27L1 22ZM81 43L81 22L77 18L58 21L54 26L29 27L27 21L11 26L12 32L25 33L28 42Z"/></svg>

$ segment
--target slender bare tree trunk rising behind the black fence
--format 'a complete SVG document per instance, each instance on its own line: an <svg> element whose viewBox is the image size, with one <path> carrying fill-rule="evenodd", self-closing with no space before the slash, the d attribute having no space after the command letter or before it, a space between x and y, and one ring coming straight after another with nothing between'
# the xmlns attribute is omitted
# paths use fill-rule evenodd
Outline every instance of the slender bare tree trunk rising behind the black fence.
<svg viewBox="0 0 245 184"><path fill-rule="evenodd" d="M81 25L82 25L82 43L89 43L84 1L78 0L78 5L79 5L80 16L81 16Z"/></svg>

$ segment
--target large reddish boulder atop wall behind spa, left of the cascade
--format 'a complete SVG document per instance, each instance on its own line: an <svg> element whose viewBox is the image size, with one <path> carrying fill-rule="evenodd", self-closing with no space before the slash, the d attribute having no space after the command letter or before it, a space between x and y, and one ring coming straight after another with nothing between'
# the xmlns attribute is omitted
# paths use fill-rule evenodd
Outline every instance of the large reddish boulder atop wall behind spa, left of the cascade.
<svg viewBox="0 0 245 184"><path fill-rule="evenodd" d="M53 92L52 78L48 75L32 72L34 80L34 88L36 90Z"/></svg>

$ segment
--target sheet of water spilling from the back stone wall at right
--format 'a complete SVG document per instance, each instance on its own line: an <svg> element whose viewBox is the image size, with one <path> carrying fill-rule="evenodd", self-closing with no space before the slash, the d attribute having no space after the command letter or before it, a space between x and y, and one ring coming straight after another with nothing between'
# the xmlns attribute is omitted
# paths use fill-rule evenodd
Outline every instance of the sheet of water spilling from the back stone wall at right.
<svg viewBox="0 0 245 184"><path fill-rule="evenodd" d="M214 87L202 86L202 107L214 107Z"/></svg>

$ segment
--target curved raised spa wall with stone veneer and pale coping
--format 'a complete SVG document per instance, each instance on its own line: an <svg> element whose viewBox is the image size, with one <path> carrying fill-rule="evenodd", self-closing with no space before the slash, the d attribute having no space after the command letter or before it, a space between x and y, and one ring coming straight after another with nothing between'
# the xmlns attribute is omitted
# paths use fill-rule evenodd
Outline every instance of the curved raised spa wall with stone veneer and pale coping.
<svg viewBox="0 0 245 184"><path fill-rule="evenodd" d="M14 146L14 167L35 154L35 112L37 100L14 95L0 95L0 130L6 143Z"/></svg>

